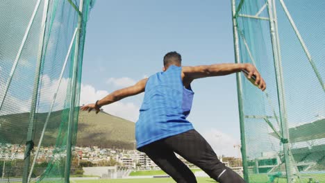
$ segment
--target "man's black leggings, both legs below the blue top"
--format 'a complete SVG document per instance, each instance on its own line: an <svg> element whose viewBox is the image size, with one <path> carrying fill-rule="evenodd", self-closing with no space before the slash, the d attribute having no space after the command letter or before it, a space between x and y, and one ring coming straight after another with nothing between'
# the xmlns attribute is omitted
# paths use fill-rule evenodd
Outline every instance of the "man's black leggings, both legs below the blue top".
<svg viewBox="0 0 325 183"><path fill-rule="evenodd" d="M165 173L178 183L197 182L194 173L174 153L198 166L211 178L220 183L242 183L240 175L224 166L217 155L196 130L189 130L167 137L138 150L146 153Z"/></svg>

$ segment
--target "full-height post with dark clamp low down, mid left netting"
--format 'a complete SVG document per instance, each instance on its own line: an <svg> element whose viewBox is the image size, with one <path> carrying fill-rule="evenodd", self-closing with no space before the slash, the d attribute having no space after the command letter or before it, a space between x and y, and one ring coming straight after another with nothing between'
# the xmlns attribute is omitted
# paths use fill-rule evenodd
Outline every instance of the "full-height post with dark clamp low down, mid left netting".
<svg viewBox="0 0 325 183"><path fill-rule="evenodd" d="M31 112L28 118L28 132L27 132L27 139L26 139L26 150L24 155L24 171L22 175L22 182L28 182L28 171L30 166L31 160L31 149L33 149L33 128L35 123L35 112L36 112L36 105L38 101L38 85L40 82L40 71L42 65L42 58L43 58L43 46L44 46L44 36L45 36L45 28L46 28L46 21L47 21L47 10L49 8L49 0L44 0L44 8L43 8L43 15L42 15L42 23L40 26L40 42L38 44L38 60L36 62L36 69L35 69L35 78L34 78L34 88L33 88L33 96L31 102Z"/></svg>

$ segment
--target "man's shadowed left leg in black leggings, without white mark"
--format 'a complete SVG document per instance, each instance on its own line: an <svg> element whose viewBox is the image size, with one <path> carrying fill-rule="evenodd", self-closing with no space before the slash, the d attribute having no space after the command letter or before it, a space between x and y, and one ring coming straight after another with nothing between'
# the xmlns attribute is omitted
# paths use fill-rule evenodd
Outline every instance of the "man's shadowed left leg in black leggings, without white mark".
<svg viewBox="0 0 325 183"><path fill-rule="evenodd" d="M176 157L174 152L156 141L139 149L147 154L165 173L178 183L197 183L197 180L188 166Z"/></svg>

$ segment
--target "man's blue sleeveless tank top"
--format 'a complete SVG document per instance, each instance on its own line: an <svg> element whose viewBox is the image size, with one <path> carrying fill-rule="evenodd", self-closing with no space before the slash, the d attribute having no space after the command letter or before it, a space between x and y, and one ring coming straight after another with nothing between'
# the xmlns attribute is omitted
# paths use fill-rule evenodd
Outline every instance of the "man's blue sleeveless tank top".
<svg viewBox="0 0 325 183"><path fill-rule="evenodd" d="M186 119L194 92L183 86L182 67L171 65L167 71L150 76L135 123L137 148L153 141L194 129Z"/></svg>

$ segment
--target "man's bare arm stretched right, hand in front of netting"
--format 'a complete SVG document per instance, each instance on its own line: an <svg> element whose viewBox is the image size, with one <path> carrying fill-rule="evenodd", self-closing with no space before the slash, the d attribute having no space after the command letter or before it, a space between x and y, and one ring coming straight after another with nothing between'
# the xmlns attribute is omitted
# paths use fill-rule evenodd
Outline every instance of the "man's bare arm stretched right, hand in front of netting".
<svg viewBox="0 0 325 183"><path fill-rule="evenodd" d="M224 76L231 73L240 72L246 70L249 72L248 78L256 76L255 84L258 85L262 91L265 90L266 84L260 73L252 64L211 64L211 65L200 65L194 67L182 67L183 81L192 82L197 78L206 78L211 76Z"/></svg>

